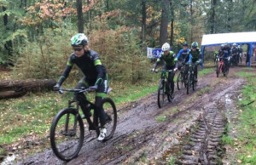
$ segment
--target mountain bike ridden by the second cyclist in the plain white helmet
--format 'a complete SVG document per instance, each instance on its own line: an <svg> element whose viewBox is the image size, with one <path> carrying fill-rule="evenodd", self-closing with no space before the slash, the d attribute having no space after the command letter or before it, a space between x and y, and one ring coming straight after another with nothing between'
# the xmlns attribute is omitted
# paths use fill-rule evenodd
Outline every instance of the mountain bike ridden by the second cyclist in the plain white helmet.
<svg viewBox="0 0 256 165"><path fill-rule="evenodd" d="M158 71L156 71L158 72ZM161 71L161 78L160 78L160 82L159 82L159 86L158 86L158 94L157 94L157 104L159 106L159 108L161 108L164 103L165 103L165 99L167 98L167 100L169 102L172 101L172 89L171 89L171 83L168 83L168 72L170 73L174 73L174 70L162 70ZM169 91L167 91L167 85L169 88Z"/></svg>

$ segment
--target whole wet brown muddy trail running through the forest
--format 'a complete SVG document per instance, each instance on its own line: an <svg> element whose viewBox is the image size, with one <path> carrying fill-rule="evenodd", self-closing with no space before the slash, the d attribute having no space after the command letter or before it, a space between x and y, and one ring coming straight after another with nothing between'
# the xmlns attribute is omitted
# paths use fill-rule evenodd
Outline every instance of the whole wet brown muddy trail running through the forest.
<svg viewBox="0 0 256 165"><path fill-rule="evenodd" d="M195 92L189 95L185 88L175 88L174 100L161 109L156 93L119 109L113 138L102 143L96 141L94 134L87 134L79 156L70 162L62 162L49 148L16 163L163 163L168 154L177 156L177 164L218 163L224 155L220 139L227 122L225 112L233 106L227 105L226 100L234 100L231 96L239 94L245 83L236 77L237 71L245 70L231 68L228 78L217 79L214 71L199 77Z"/></svg>

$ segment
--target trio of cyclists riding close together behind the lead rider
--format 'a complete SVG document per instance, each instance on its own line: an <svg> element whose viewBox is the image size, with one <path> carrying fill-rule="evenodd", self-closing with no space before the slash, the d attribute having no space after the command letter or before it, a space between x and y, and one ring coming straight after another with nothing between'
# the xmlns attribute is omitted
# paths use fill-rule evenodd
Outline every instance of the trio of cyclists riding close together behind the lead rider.
<svg viewBox="0 0 256 165"><path fill-rule="evenodd" d="M188 66L190 64L195 65L195 83L197 82L197 65L201 64L201 50L198 48L198 43L193 42L191 44L191 49L189 49L188 43L183 43L183 48L176 54L170 50L171 46L169 43L164 43L162 46L162 53L159 59L154 63L152 71L156 71L156 66L160 61L164 62L164 70L173 70L174 72L168 72L168 83L171 83L171 98L174 98L174 81L175 71L181 70L183 66ZM185 67L185 74L189 72L188 67ZM166 86L166 94L170 94L170 89L168 85Z"/></svg>

